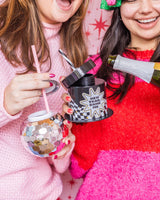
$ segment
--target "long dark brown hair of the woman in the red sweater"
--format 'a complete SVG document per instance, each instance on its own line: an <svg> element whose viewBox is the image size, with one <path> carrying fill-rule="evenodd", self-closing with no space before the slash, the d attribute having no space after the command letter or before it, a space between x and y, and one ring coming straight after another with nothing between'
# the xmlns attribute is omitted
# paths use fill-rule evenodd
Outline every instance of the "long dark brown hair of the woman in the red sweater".
<svg viewBox="0 0 160 200"><path fill-rule="evenodd" d="M130 41L130 32L121 20L120 8L116 8L113 12L111 25L106 31L101 44L100 57L102 66L96 76L107 81L107 88L113 91L109 98L118 97L118 102L122 101L127 91L134 85L135 77L115 71L113 66L108 65L107 60L109 55L122 55L124 51L127 51ZM157 46L150 61L160 61L160 44ZM124 76L124 82L118 88L112 83L113 73L117 73L119 77Z"/></svg>

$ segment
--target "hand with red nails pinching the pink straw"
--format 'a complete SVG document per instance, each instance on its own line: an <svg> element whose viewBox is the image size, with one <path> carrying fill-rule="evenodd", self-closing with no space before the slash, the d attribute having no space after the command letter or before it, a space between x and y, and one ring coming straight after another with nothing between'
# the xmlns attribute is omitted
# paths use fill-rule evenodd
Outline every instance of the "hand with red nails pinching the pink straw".
<svg viewBox="0 0 160 200"><path fill-rule="evenodd" d="M42 89L51 86L49 80L54 76L50 73L15 76L4 91L4 107L7 113L15 115L36 103L42 95Z"/></svg>

